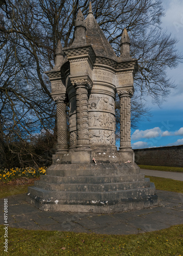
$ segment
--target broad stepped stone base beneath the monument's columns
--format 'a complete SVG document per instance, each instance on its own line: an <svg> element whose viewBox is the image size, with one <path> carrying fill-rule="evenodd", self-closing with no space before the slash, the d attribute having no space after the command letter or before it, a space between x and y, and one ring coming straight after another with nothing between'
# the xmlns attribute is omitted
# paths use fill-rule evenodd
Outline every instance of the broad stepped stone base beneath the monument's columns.
<svg viewBox="0 0 183 256"><path fill-rule="evenodd" d="M40 210L120 212L157 204L153 183L135 163L53 164L29 187Z"/></svg>

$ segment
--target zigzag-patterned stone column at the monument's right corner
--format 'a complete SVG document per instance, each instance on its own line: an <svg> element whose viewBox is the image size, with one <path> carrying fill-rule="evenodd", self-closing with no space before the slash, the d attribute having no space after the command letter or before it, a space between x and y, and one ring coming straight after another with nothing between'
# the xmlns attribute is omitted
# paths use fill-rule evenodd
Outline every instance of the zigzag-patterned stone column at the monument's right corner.
<svg viewBox="0 0 183 256"><path fill-rule="evenodd" d="M117 91L120 98L120 147L119 152L132 151L130 139L130 99L133 90Z"/></svg>

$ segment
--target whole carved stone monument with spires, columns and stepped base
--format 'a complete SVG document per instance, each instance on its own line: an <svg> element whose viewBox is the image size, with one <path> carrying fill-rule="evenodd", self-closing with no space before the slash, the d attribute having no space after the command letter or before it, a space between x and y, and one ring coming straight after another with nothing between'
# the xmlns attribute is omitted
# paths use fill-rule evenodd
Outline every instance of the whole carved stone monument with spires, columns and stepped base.
<svg viewBox="0 0 183 256"><path fill-rule="evenodd" d="M46 72L57 104L58 150L47 175L29 187L27 194L27 201L39 209L101 213L157 203L154 184L140 173L130 145L130 98L138 66L129 47L124 29L120 57L116 56L93 16L91 3L86 19L81 10L77 14L73 44L62 48L58 42L55 67ZM119 151L116 93L120 98Z"/></svg>

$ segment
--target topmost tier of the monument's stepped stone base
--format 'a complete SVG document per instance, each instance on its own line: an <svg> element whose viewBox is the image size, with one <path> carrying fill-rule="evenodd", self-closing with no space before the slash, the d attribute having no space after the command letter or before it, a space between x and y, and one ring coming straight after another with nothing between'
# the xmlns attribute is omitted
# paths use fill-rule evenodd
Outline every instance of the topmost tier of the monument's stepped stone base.
<svg viewBox="0 0 183 256"><path fill-rule="evenodd" d="M55 176L119 176L139 174L140 168L133 163L101 164L52 164L47 168L47 175Z"/></svg>

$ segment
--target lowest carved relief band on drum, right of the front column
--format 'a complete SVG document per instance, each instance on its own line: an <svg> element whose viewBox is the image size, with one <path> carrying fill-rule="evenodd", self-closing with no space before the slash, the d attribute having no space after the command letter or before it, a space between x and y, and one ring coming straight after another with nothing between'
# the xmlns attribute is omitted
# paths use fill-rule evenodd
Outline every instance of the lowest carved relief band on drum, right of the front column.
<svg viewBox="0 0 183 256"><path fill-rule="evenodd" d="M115 144L114 131L109 130L91 130L90 131L90 144Z"/></svg>

